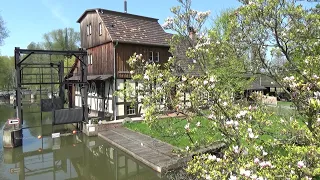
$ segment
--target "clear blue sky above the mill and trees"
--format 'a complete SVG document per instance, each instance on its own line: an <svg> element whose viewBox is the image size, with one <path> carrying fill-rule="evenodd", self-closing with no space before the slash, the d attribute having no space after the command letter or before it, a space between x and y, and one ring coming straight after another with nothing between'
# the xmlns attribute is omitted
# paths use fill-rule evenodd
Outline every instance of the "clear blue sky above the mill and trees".
<svg viewBox="0 0 320 180"><path fill-rule="evenodd" d="M41 42L43 34L71 27L80 31L76 22L86 9L103 8L124 11L124 0L1 0L0 15L6 22L9 37L0 46L0 55L13 56L14 47L26 48ZM172 15L170 8L177 0L127 0L128 13L164 20ZM211 10L212 18L221 11L239 6L237 0L193 0L193 9Z"/></svg>

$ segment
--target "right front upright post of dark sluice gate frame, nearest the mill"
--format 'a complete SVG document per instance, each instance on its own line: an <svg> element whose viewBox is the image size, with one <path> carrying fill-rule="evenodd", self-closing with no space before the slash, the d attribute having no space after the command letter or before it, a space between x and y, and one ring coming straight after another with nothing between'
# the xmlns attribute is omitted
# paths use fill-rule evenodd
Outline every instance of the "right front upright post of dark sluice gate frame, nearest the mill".
<svg viewBox="0 0 320 180"><path fill-rule="evenodd" d="M81 89L82 94L82 108L83 108L83 121L88 122L88 56L83 56L83 63L81 63L81 82L84 83Z"/></svg>

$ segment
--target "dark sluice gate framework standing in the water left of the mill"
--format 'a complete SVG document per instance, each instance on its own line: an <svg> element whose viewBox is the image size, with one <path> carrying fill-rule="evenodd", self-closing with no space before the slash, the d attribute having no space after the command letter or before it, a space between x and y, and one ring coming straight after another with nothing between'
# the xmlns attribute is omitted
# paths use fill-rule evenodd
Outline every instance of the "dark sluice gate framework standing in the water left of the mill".
<svg viewBox="0 0 320 180"><path fill-rule="evenodd" d="M39 63L39 62L28 62L28 58L32 55L49 55L50 56L50 63ZM21 55L25 55L23 58ZM71 82L67 80L67 77L70 74L64 74L64 62L60 61L59 63L51 62L51 55L62 55L65 57L72 57L76 58L76 61L80 62L80 81L78 82ZM54 105L54 92L53 87L54 85L59 86L59 98L63 100L65 99L65 89L66 87L73 86L75 84L81 84L81 99L82 99L82 120L81 121L88 121L88 68L87 68L87 51L84 49L79 49L78 51L54 51L54 50L30 50L30 49L20 49L19 47L15 48L15 75L16 75L16 116L20 119L21 124L23 125L23 109L22 109L22 89L24 86L32 86L37 85L40 86L40 94L41 94L41 85L51 85L51 99L52 99L52 109L51 111L54 113L55 105ZM23 70L27 68L38 68L39 73L25 73L23 74ZM43 73L43 69L50 69L50 73ZM58 79L53 79L53 73L58 73ZM30 77L35 76L36 82L32 81ZM44 76L46 76L44 78ZM40 80L40 82L38 82ZM46 80L44 82L44 80ZM27 82L25 82L27 81ZM68 88L68 91L70 89ZM70 92L69 92L70 93ZM70 106L69 101L69 108ZM62 104L62 107L63 107ZM41 112L42 113L42 112ZM42 117L42 114L41 114ZM42 119L41 119L42 121ZM53 119L54 121L54 119ZM67 122L68 123L68 122ZM70 122L69 122L70 123Z"/></svg>

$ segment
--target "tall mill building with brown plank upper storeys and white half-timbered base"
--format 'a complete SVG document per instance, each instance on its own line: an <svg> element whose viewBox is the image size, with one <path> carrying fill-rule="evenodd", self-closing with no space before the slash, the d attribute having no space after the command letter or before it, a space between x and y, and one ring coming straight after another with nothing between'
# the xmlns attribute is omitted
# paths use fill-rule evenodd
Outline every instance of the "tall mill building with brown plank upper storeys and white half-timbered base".
<svg viewBox="0 0 320 180"><path fill-rule="evenodd" d="M113 93L130 81L127 60L134 54L155 63L168 60L170 53L166 33L158 19L105 9L86 10L77 21L80 24L81 47L88 52L88 106L99 116L112 115L113 119L139 116L141 104L134 107ZM79 63L74 65L73 76L78 80ZM138 84L133 83L135 87ZM73 87L74 106L81 106L80 86Z"/></svg>

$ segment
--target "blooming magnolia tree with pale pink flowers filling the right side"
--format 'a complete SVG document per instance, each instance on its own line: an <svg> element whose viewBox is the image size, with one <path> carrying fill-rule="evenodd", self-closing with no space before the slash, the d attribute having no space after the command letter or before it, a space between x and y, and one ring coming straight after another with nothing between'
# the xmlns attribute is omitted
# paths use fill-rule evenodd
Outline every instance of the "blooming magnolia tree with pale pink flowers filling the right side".
<svg viewBox="0 0 320 180"><path fill-rule="evenodd" d="M155 64L135 54L128 63L139 88L127 84L118 95L133 103L136 94L142 95L145 120L151 127L166 110L173 108L184 114L188 121L182 131L163 129L173 137L187 135L187 152L213 143L214 139L192 139L203 126L193 122L194 117L206 117L206 130L212 136L219 133L226 148L218 154L194 156L185 170L197 178L319 177L319 10L303 9L283 0L246 1L220 18L222 26L218 23L206 31L202 26L209 13L192 10L189 0L179 2L181 7L172 8L174 17L164 24L165 29L177 32L172 39L172 54L187 39L190 46L185 54L195 60L190 69L200 66L202 73L181 74L176 57ZM196 39L189 37L190 27L196 31ZM245 62L252 47L266 74L283 86L299 114L276 116L261 103L259 93L252 95L251 104L236 98L247 85L241 73L248 71ZM272 56L268 53L274 51L286 60L281 67L268 60ZM184 97L189 102L183 102Z"/></svg>

